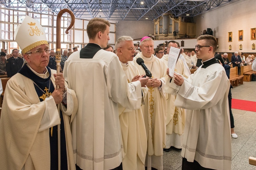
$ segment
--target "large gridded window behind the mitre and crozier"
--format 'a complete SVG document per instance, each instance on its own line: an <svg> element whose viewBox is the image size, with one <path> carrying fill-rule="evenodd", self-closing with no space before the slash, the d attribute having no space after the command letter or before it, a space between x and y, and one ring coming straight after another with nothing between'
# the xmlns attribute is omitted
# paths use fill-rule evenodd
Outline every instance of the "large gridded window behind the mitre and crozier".
<svg viewBox="0 0 256 170"><path fill-rule="evenodd" d="M42 9L45 8L42 5ZM20 7L18 10L8 9L0 5L0 38L1 47L8 44L8 52L13 48L18 48L17 43L14 40L14 31L16 30L19 23L22 23L25 16L28 15L39 22L45 30L47 41L50 48L56 48L56 20L57 16L53 15L52 12L33 12L31 9ZM69 33L65 31L71 24L71 17L68 13L64 13L61 17L61 47L62 48L73 48L74 46L84 47L88 42L88 36L86 33L86 27L89 20L79 19L75 20L75 26L73 26ZM115 24L111 23L110 45L115 44ZM7 43L8 42L8 43ZM15 47L14 47L15 46Z"/></svg>

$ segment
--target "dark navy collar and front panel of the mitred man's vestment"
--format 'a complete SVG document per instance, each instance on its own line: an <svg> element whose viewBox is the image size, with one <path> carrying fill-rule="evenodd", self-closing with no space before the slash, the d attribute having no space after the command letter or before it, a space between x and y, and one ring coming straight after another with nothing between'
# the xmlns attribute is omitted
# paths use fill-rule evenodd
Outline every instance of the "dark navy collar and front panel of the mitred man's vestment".
<svg viewBox="0 0 256 170"><path fill-rule="evenodd" d="M39 100L42 102L47 97L51 96L54 92L54 85L51 81L51 69L47 67L49 72L49 77L44 79L35 75L27 65L24 65L19 73L25 77L31 79L34 83L35 91L38 95ZM67 170L67 150L66 150L66 137L65 137L65 127L62 111L60 111L61 119L61 169ZM50 149L51 149L51 170L58 169L58 131L57 126L50 128Z"/></svg>

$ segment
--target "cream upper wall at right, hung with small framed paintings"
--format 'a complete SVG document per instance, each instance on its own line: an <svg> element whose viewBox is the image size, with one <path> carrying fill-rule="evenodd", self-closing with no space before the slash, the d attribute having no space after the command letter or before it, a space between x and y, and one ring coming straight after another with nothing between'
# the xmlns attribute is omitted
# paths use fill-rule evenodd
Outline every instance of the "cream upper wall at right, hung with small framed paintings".
<svg viewBox="0 0 256 170"><path fill-rule="evenodd" d="M250 39L250 29L256 27L255 5L255 0L234 0L195 16L196 36L199 36L202 30L211 28L214 36L219 38L217 52L256 53L256 50L252 50L252 44L256 44L256 40ZM238 41L238 30L244 30L243 41ZM228 32L233 32L232 42L228 42ZM239 50L240 44L243 45L243 50ZM229 45L232 46L232 50L229 50Z"/></svg>

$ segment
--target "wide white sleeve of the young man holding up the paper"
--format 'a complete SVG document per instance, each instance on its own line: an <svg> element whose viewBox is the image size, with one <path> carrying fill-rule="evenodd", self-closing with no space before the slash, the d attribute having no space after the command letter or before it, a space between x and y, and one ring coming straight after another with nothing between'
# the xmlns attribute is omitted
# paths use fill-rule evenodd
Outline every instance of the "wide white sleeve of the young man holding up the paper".
<svg viewBox="0 0 256 170"><path fill-rule="evenodd" d="M198 110L215 106L227 90L227 76L225 71L216 71L208 80L200 86L192 86L190 77L181 85L174 105L184 109ZM229 82L229 81L228 81Z"/></svg>

